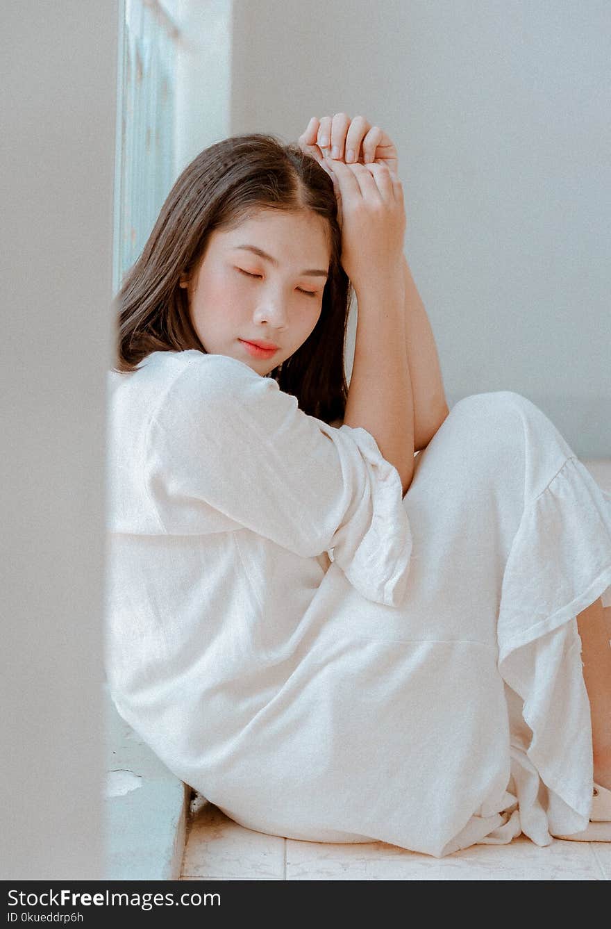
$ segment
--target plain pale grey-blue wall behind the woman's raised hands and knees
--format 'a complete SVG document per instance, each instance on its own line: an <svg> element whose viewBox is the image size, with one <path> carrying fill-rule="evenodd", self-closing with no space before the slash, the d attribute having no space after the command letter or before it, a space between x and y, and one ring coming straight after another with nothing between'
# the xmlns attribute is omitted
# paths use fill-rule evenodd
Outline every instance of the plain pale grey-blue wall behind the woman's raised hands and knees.
<svg viewBox="0 0 611 929"><path fill-rule="evenodd" d="M516 390L611 457L608 0L234 0L231 132L396 140L450 407Z"/></svg>

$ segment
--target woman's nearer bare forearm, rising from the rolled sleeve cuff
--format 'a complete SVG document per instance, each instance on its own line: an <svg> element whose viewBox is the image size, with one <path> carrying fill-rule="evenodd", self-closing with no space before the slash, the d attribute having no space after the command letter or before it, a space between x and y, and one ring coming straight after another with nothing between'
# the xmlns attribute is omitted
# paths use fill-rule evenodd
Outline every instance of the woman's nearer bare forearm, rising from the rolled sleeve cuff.
<svg viewBox="0 0 611 929"><path fill-rule="evenodd" d="M401 269L355 291L357 334L344 424L370 432L395 465L405 494L414 472L414 417Z"/></svg>

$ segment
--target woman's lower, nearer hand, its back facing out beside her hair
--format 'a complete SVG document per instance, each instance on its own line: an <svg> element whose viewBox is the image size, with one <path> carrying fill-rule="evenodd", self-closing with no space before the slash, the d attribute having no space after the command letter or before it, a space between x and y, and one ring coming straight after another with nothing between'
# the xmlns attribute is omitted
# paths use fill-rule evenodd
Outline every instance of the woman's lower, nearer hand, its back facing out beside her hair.
<svg viewBox="0 0 611 929"><path fill-rule="evenodd" d="M400 267L405 236L403 187L385 164L325 160L342 203L342 266L357 294Z"/></svg>

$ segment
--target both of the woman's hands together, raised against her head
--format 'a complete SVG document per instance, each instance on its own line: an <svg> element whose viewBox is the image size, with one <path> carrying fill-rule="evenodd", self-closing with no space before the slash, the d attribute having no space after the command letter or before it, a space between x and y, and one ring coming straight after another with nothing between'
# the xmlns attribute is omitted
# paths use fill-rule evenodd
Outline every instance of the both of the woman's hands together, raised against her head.
<svg viewBox="0 0 611 929"><path fill-rule="evenodd" d="M342 229L342 265L358 288L396 268L406 228L396 147L379 126L345 113L316 116L299 137L333 181Z"/></svg>

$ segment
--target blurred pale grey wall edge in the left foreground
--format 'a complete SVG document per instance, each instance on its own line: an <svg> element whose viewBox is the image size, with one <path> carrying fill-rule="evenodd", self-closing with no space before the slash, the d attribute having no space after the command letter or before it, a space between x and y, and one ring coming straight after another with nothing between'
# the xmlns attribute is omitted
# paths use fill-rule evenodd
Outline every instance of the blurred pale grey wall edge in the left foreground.
<svg viewBox="0 0 611 929"><path fill-rule="evenodd" d="M0 878L103 877L117 0L2 13Z"/></svg>

